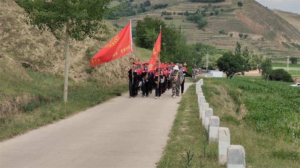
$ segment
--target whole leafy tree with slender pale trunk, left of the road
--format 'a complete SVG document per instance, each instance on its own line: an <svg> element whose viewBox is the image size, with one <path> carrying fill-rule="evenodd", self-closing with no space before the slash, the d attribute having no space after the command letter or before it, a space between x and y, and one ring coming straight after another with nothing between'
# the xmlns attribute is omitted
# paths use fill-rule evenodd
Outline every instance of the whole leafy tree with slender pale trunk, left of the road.
<svg viewBox="0 0 300 168"><path fill-rule="evenodd" d="M67 102L68 90L68 55L69 39L84 40L87 36L105 41L104 33L109 31L103 24L104 15L110 14L120 7L110 7L113 0L15 0L25 10L27 24L37 26L39 30L50 30L56 39L65 42L65 70L64 70L64 102ZM65 29L65 31L63 31ZM65 38L62 34L66 35Z"/></svg>

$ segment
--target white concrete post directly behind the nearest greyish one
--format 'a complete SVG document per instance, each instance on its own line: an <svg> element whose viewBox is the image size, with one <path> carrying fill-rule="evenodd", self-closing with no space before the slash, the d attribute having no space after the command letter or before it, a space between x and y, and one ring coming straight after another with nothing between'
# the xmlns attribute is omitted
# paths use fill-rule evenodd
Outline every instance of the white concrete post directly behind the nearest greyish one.
<svg viewBox="0 0 300 168"><path fill-rule="evenodd" d="M230 131L229 128L219 127L218 129L218 161L221 164L227 161L227 147L230 146Z"/></svg>

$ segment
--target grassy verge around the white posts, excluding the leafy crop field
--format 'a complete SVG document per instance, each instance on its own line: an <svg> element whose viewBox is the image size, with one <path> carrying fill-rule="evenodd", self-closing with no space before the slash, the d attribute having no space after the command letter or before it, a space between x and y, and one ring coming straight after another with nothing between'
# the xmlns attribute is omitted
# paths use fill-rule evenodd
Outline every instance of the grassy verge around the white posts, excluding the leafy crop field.
<svg viewBox="0 0 300 168"><path fill-rule="evenodd" d="M238 99L239 96L243 96L241 92L229 85L220 87L212 80L204 80L202 91L205 99L213 108L214 115L220 117L220 126L230 129L231 144L244 146L246 167L300 167L300 151L297 146L272 135L255 132L242 120L247 111L243 106L238 106L242 103ZM195 85L191 85L180 102L170 139L158 167L187 167L180 156L187 156L185 149L194 153L189 167L226 167L217 163L217 144L207 143L207 136L198 118L198 110Z"/></svg>

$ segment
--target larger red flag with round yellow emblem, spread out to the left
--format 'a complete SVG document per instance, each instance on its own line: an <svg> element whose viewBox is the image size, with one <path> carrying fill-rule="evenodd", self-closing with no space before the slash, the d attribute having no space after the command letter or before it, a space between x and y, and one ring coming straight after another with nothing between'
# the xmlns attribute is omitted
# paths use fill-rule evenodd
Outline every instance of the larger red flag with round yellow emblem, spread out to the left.
<svg viewBox="0 0 300 168"><path fill-rule="evenodd" d="M90 67L110 62L132 51L131 24L123 28L90 60Z"/></svg>

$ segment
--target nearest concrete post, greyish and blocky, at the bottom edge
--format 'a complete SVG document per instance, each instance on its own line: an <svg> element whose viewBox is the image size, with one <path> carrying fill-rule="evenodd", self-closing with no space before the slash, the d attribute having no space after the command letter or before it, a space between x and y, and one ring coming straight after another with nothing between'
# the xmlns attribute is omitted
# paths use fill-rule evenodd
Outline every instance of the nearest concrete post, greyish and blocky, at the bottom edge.
<svg viewBox="0 0 300 168"><path fill-rule="evenodd" d="M227 168L245 168L245 149L241 145L227 147Z"/></svg>

